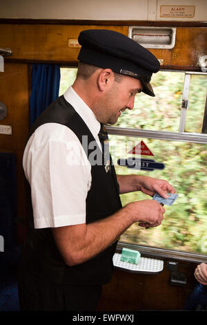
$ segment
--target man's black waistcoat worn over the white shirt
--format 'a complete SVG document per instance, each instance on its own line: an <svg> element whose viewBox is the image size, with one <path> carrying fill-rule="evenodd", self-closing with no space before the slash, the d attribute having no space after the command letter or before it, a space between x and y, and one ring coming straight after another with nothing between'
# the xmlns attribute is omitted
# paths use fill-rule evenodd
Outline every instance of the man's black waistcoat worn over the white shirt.
<svg viewBox="0 0 207 325"><path fill-rule="evenodd" d="M72 129L82 144L82 136L88 136L88 144L95 141L79 114L63 96L53 102L34 122L30 135L42 124L56 122ZM88 160L92 149L83 146ZM103 158L103 157L102 157ZM110 216L121 208L119 185L112 165L106 172L104 165L91 167L92 184L86 198L86 223ZM31 207L30 193L28 196ZM106 284L112 276L112 256L117 242L96 257L77 266L67 266L59 254L50 228L34 229L32 209L29 216L29 234L23 250L23 264L34 273L46 275L52 281L66 284Z"/></svg>

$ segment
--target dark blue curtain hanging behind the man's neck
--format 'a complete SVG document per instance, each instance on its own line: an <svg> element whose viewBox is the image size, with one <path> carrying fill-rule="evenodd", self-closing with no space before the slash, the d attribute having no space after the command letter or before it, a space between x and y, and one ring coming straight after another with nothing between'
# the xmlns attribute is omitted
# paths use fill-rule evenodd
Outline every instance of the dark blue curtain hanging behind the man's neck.
<svg viewBox="0 0 207 325"><path fill-rule="evenodd" d="M59 95L60 66L32 64L32 92L30 95L30 127L37 117Z"/></svg>

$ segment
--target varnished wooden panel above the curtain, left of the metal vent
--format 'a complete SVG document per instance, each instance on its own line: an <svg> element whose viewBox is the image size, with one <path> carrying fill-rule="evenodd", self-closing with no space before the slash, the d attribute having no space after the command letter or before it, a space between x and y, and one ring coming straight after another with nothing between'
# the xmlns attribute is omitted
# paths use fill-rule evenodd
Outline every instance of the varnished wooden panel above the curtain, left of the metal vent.
<svg viewBox="0 0 207 325"><path fill-rule="evenodd" d="M0 28L1 48L11 48L13 52L8 60L77 62L79 48L69 48L68 39L77 39L81 30L103 26L1 24ZM128 34L126 26L104 28Z"/></svg>

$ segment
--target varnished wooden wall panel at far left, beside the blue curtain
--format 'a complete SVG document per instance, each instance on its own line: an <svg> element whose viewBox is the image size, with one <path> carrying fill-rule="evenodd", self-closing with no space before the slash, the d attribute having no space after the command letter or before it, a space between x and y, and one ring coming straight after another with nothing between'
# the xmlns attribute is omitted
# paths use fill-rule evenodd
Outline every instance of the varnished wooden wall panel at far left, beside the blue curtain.
<svg viewBox="0 0 207 325"><path fill-rule="evenodd" d="M0 73L0 100L8 108L8 115L0 124L11 125L12 135L0 134L0 151L17 157L17 220L27 217L26 193L23 181L22 156L29 129L28 64L6 63ZM20 241L26 227L19 225Z"/></svg>

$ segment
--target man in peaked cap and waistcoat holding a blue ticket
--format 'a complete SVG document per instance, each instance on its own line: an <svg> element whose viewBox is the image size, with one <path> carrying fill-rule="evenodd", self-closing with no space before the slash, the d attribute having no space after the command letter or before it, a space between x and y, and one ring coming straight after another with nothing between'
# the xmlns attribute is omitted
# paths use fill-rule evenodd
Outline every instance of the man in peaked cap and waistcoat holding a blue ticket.
<svg viewBox="0 0 207 325"><path fill-rule="evenodd" d="M95 310L112 276L117 238L132 223L156 227L164 218L156 201L121 207L119 194L175 193L165 180L116 176L99 140L103 124L133 109L136 93L154 95L149 81L159 62L110 30L84 30L79 43L77 79L34 123L23 156L32 210L21 262L22 310Z"/></svg>

